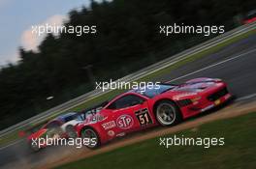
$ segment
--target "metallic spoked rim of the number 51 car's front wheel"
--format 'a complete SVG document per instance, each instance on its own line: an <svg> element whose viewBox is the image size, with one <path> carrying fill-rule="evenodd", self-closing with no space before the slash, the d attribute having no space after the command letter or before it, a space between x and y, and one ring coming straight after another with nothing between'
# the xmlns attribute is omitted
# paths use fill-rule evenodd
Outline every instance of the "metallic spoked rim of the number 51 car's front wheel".
<svg viewBox="0 0 256 169"><path fill-rule="evenodd" d="M161 103L157 107L156 116L162 125L172 125L176 121L176 109L172 104Z"/></svg>

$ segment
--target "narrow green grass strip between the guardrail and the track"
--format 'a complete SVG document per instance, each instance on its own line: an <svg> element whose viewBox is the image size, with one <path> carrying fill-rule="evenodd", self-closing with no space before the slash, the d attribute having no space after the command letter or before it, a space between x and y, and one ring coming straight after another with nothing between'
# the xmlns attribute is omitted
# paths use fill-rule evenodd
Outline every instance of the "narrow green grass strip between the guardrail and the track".
<svg viewBox="0 0 256 169"><path fill-rule="evenodd" d="M143 78L138 79L137 81L148 81L148 80L150 80L152 78L155 78L155 77L157 77L159 75L164 75L166 73L169 73L172 70L175 70L175 69L177 69L177 68L179 68L181 66L186 65L189 62L193 62L193 61L198 60L198 59L200 59L200 58L202 58L204 56L207 56L207 55L209 55L211 53L217 52L218 50L222 49L223 47L225 47L225 46L227 46L229 44L232 44L234 42L238 42L238 41L240 41L240 40L242 40L244 38L247 38L247 37L249 37L251 35L255 35L255 34L256 34L255 30L249 31L249 32L247 32L245 34L242 34L242 35L240 35L238 37L235 37L235 38L233 38L233 39L231 39L231 40L229 40L227 42L222 42L222 43L220 43L218 45L215 45L215 46L209 48L208 50L202 51L202 52L194 54L194 55L190 55L186 59L183 59L183 60L177 62L175 65L172 65L172 66L170 66L168 68L165 68L163 70L158 70L156 72L148 74L148 75L144 76ZM80 105L78 105L78 106L76 106L74 108L71 108L68 111L79 111L81 109L90 107L92 105L95 105L95 104L97 104L99 102L102 102L102 101L105 101L107 99L112 99L114 96L116 96L116 95L118 95L118 94L120 94L122 92L123 92L122 90L113 90L113 91L111 91L111 92L109 92L107 94L104 94L104 95L100 96L100 97L97 97L97 98L94 98L94 99L85 100L85 101L81 102ZM65 112L68 112L68 111L65 111ZM48 121L49 119L52 119L52 118L54 118L54 117L56 117L56 116L58 116L60 114L63 114L65 112L60 111L60 112L52 113L52 116L50 116L46 121ZM39 125L41 125L43 123L46 123L46 121L32 124L29 127L37 127L37 126L39 126ZM25 130L26 128L27 127L20 128L19 130ZM14 132L11 132L11 133L1 137L1 139L0 139L0 146L2 147L2 146L6 145L6 144L8 144L10 142L14 142L17 139L19 139L19 137L16 134L17 132L18 131L16 130Z"/></svg>

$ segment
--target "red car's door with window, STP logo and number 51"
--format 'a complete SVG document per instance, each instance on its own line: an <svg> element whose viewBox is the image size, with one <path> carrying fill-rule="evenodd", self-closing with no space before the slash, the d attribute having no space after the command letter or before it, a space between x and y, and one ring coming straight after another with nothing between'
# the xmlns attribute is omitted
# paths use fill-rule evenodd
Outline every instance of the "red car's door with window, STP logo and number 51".
<svg viewBox="0 0 256 169"><path fill-rule="evenodd" d="M112 118L121 132L139 130L152 124L147 101L137 95L129 94L116 99L108 109L112 109Z"/></svg>

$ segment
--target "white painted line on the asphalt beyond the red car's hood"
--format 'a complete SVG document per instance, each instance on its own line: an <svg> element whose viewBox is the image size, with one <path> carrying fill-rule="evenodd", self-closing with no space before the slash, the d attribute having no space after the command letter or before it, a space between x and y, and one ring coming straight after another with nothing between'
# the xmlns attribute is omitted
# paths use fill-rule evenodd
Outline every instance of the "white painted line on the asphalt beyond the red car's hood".
<svg viewBox="0 0 256 169"><path fill-rule="evenodd" d="M229 59L226 59L226 60L224 60L224 61L218 62L218 63L216 63L216 64L212 64L212 65L210 65L210 66L208 66L208 67L206 67L206 68L203 68L203 69L201 69L201 70L196 70L196 71L187 73L187 74L185 74L185 75L179 76L179 77L177 77L177 78L175 78L175 79L172 79L172 80L170 80L170 81L167 81L167 83L176 81L176 80L178 80L178 79L187 77L187 76L189 76L189 75L196 74L196 73L201 72L201 71L203 71L203 70L211 69L211 68L213 68L213 67L216 67L216 66L218 66L218 65L224 64L224 63L226 63L226 62L229 62L229 61L232 61L232 60L235 60L235 59L238 59L238 58L240 58L241 56L244 56L244 55L249 54L249 53L253 53L253 52L255 52L255 51L256 51L256 49L249 50L249 51L247 51L247 52L241 53L240 55L234 56L234 57L232 57L232 58L229 58Z"/></svg>

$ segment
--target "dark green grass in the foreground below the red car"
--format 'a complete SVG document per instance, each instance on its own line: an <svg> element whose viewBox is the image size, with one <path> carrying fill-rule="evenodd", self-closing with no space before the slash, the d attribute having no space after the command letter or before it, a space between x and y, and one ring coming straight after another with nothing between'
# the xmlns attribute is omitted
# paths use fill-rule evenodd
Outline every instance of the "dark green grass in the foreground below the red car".
<svg viewBox="0 0 256 169"><path fill-rule="evenodd" d="M256 113L215 121L176 137L225 138L224 146L159 146L159 137L81 159L57 169L254 169L256 166ZM165 135L174 138L175 134ZM162 137L163 138L163 137Z"/></svg>

